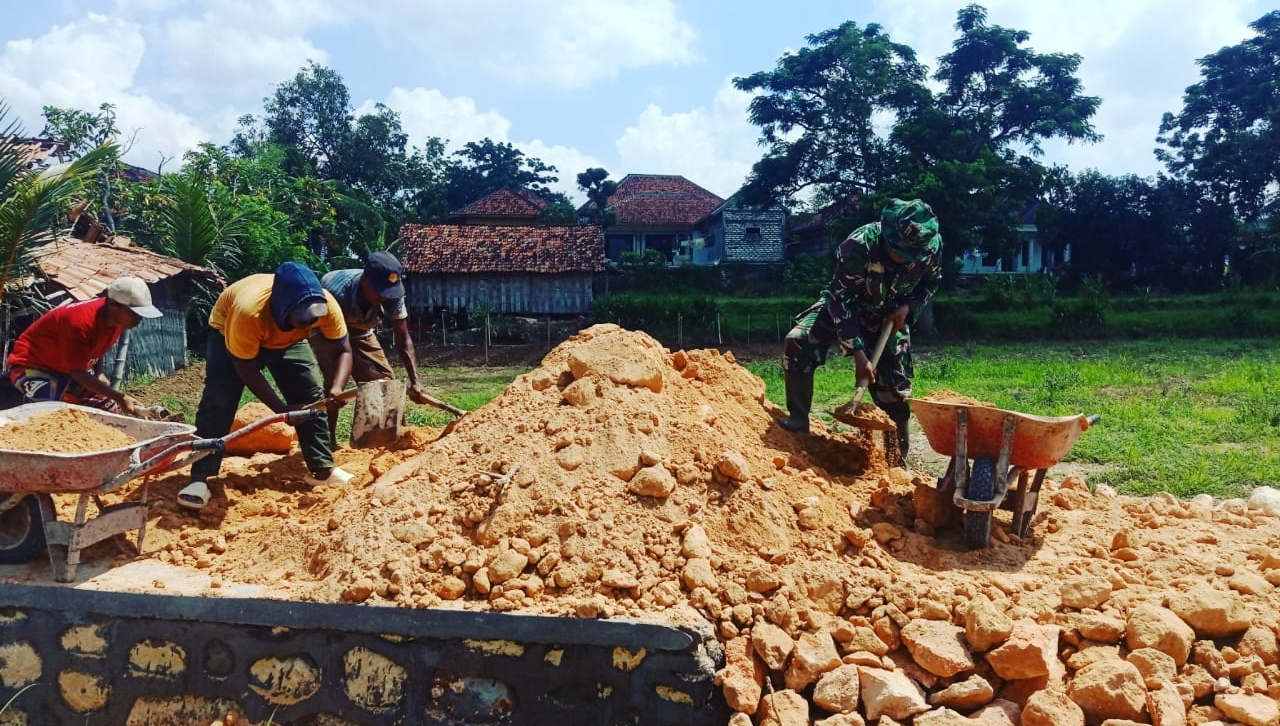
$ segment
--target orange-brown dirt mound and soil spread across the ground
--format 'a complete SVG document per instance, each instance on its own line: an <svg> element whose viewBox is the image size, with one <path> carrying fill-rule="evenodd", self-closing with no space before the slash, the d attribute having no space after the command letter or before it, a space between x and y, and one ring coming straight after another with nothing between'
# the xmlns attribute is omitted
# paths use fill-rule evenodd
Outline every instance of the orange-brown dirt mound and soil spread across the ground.
<svg viewBox="0 0 1280 726"><path fill-rule="evenodd" d="M166 378L146 402L197 384L191 371ZM183 472L147 481L152 520L141 557L206 574L210 595L251 584L282 599L707 621L731 654L742 639L755 648L746 671L755 675L745 680L763 691L740 688L732 667L724 674L744 725L832 717L840 709L813 688L818 674L868 662L905 674L931 698L970 675L983 679L989 693L965 702L965 713L993 703L1034 709L1028 702L1037 691L1071 693L1083 667L1073 667L1073 657L1106 645L1107 658L1123 659L1137 649L1124 624L1143 607L1212 592L1230 598L1231 622L1244 625L1221 638L1197 631L1198 640L1226 653L1228 663L1251 654L1238 639L1249 626L1268 634L1270 645L1260 647L1257 668L1224 666L1226 682L1216 691L1198 677L1212 668L1179 663L1167 680L1189 694L1181 722L1253 723L1226 720L1231 711L1216 694L1235 689L1272 703L1280 695L1280 520L1272 510L1124 497L1055 467L1025 539L1011 531L1011 513L997 511L991 547L970 551L946 498L931 494L937 458L916 460L913 481L886 466L878 435L820 424L796 435L777 425L782 415L732 355L668 351L643 333L596 325L447 435L412 428L394 448L340 448L338 465L357 474L349 487L303 484L296 449L228 457L212 503L198 515L174 504ZM928 449L923 440L914 447ZM1082 604L1071 594L1080 583L1105 594ZM904 641L914 621L968 634L978 602L1010 621L1053 629L1056 680L1037 676L1032 686L987 663L940 676ZM1117 621L1120 634L1110 644L1088 629L1084 636L1082 617ZM753 640L769 627L795 639L791 661L773 663ZM836 661L813 679L794 677L801 653L812 658L805 648L814 636L835 639ZM872 641L878 645L868 648ZM975 656L987 648L970 647ZM771 700L782 690L801 694L810 716L788 720ZM861 723L852 718L859 713L876 722L870 707L859 708L829 723ZM1083 708L1089 723L1102 721ZM1152 722L1156 708L1143 706L1134 721ZM1004 721L1019 722L1055 721Z"/></svg>

